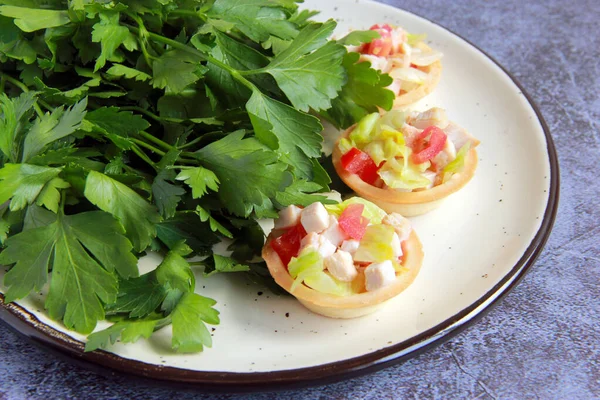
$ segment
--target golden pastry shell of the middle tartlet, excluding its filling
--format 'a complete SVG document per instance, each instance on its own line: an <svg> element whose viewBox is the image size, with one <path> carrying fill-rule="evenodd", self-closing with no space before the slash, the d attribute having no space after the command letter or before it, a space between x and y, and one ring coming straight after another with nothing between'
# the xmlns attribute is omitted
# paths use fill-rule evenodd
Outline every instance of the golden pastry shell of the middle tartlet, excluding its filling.
<svg viewBox="0 0 600 400"><path fill-rule="evenodd" d="M454 126L457 127L455 124ZM348 140L356 127L357 125L351 126L338 138L332 153L333 165L337 174L347 186L359 196L377 204L386 212L397 212L408 217L425 214L437 208L446 197L464 187L475 174L478 162L475 148L479 141L469 135L470 148L464 155L464 164L460 171L452 174L447 181L431 188L413 191L400 191L372 185L342 166L343 153L340 143L344 139Z"/></svg>

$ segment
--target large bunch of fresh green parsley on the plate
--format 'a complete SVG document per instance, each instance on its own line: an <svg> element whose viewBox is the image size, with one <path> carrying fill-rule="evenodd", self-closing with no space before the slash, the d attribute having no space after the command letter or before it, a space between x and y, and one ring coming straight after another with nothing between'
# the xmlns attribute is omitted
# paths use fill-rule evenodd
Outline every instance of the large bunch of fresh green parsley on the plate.
<svg viewBox="0 0 600 400"><path fill-rule="evenodd" d="M387 75L330 40L295 0L0 0L0 264L4 301L45 307L86 349L172 324L211 345L204 272L249 263L256 220L322 201L322 125L389 108ZM231 239L231 256L212 247ZM164 253L150 273L138 258Z"/></svg>

